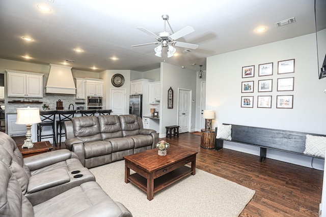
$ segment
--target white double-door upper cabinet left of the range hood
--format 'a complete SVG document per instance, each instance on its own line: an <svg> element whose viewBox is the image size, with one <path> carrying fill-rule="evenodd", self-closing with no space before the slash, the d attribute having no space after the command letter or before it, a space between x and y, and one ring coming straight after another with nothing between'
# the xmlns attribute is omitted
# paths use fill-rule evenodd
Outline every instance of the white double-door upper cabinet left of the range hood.
<svg viewBox="0 0 326 217"><path fill-rule="evenodd" d="M43 97L43 75L41 73L6 70L8 97Z"/></svg>

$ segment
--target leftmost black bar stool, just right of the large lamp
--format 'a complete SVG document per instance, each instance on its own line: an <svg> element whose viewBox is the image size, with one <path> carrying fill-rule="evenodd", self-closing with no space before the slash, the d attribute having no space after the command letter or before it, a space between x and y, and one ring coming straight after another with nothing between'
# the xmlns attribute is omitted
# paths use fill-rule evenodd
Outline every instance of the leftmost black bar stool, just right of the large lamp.
<svg viewBox="0 0 326 217"><path fill-rule="evenodd" d="M53 144L57 146L56 139L56 127L55 127L55 119L56 119L57 111L40 111L40 118L42 122L37 123L37 141L40 142L42 139L53 138ZM42 128L45 126L52 127L52 134L42 135Z"/></svg>

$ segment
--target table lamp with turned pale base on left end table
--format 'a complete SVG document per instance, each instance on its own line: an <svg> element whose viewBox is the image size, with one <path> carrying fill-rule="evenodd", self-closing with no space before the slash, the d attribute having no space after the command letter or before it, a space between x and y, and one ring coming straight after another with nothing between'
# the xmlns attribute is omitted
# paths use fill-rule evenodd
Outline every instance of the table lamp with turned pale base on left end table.
<svg viewBox="0 0 326 217"><path fill-rule="evenodd" d="M24 140L24 144L21 146L23 148L33 148L34 144L31 139L31 127L33 123L42 122L40 118L40 109L39 108L17 108L17 125L26 125L26 140Z"/></svg>

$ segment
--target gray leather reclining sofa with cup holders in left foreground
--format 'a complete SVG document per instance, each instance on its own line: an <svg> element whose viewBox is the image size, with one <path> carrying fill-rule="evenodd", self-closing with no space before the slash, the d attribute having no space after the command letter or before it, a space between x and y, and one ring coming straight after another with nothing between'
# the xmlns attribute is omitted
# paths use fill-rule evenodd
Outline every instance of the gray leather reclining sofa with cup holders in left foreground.
<svg viewBox="0 0 326 217"><path fill-rule="evenodd" d="M0 216L132 216L69 150L23 159L14 146L0 132ZM71 177L76 169L85 177Z"/></svg>

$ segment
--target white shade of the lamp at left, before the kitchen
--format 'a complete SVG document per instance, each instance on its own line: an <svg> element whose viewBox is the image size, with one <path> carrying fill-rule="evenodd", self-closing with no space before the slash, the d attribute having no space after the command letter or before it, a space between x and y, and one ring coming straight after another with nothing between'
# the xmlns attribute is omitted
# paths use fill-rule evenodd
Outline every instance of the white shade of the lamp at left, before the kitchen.
<svg viewBox="0 0 326 217"><path fill-rule="evenodd" d="M41 122L39 108L17 108L17 125L32 125Z"/></svg>

